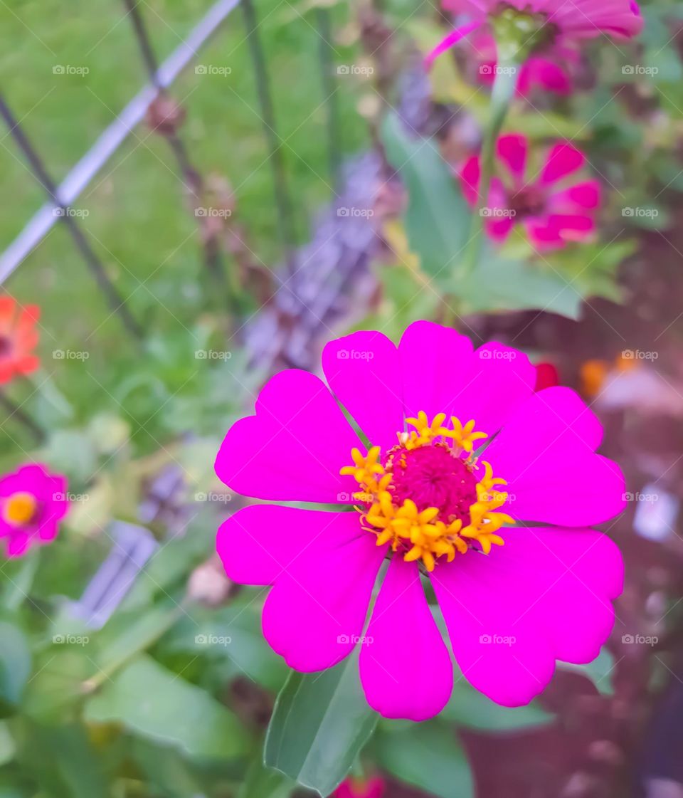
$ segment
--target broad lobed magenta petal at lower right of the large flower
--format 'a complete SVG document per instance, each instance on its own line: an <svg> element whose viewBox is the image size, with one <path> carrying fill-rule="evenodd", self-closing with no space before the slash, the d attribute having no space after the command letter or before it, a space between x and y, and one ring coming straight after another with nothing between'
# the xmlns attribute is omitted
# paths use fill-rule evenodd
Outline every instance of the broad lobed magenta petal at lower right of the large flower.
<svg viewBox="0 0 683 798"><path fill-rule="evenodd" d="M467 557L432 574L464 677L506 706L538 695L555 659L597 656L622 579L621 555L606 535L545 528L515 529L495 558Z"/></svg>

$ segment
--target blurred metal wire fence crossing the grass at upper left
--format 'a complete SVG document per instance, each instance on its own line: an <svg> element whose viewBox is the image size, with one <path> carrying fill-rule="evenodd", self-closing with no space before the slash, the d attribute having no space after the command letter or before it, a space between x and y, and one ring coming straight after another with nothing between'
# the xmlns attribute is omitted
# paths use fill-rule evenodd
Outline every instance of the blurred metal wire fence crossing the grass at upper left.
<svg viewBox="0 0 683 798"><path fill-rule="evenodd" d="M108 275L105 264L97 255L97 251L89 242L87 230L77 215L71 212L81 192L86 188L97 172L113 156L117 148L140 124L145 117L152 127L160 132L168 142L172 155L176 160L178 172L183 180L185 194L191 203L199 205L206 181L199 170L191 162L191 156L178 132L179 116L182 109L175 105L168 95L168 89L183 69L188 67L199 54L199 49L213 34L219 30L230 14L239 6L251 56L259 106L259 117L263 125L263 136L266 145L266 160L270 164L273 185L274 207L277 211L278 235L282 245L283 260L290 263L294 257L294 223L290 192L287 184L286 168L282 157L282 140L278 135L277 120L274 113L270 75L259 30L259 18L253 0L217 0L207 14L195 25L188 37L163 62L158 61L148 27L144 20L144 2L142 0L122 0L126 18L131 23L131 30L136 38L140 59L148 79L145 85L116 120L101 133L93 147L74 165L69 174L56 184L50 175L49 164L41 156L22 128L18 117L21 114L11 107L10 99L0 93L0 115L5 120L11 136L21 150L34 178L45 190L46 202L36 215L26 224L6 251L0 255L0 283L23 263L30 252L41 243L54 224L65 226L73 239L74 246L84 260L89 271L104 292L110 309L115 312L124 329L132 337L143 337L139 320L133 318L131 311L116 289ZM338 140L338 109L334 90L333 61L331 54L329 10L318 10L316 23L320 47L318 57L322 75L321 89L325 93L327 113L327 148L330 164L330 184L336 185L340 148ZM223 271L222 255L215 243L203 240L203 255L210 271L220 277Z"/></svg>

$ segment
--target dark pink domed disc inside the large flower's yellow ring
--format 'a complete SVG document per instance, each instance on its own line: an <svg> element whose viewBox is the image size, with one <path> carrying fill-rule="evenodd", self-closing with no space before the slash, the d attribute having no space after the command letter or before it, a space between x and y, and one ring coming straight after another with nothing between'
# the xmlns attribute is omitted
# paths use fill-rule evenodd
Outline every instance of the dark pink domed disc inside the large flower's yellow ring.
<svg viewBox="0 0 683 798"><path fill-rule="evenodd" d="M439 508L438 517L444 523L458 519L465 526L470 523L470 508L477 500L477 479L472 468L453 455L447 445L394 448L385 468L392 474L391 492L398 507L410 499L418 511Z"/></svg>

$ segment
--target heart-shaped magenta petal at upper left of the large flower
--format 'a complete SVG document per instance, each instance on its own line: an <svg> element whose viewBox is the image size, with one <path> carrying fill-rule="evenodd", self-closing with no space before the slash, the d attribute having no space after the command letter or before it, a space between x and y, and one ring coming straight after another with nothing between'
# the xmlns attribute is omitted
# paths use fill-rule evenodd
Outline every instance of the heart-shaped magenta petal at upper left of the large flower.
<svg viewBox="0 0 683 798"><path fill-rule="evenodd" d="M361 442L326 385L290 369L264 385L255 416L228 430L215 472L255 499L348 504L357 486L339 468L354 446Z"/></svg>

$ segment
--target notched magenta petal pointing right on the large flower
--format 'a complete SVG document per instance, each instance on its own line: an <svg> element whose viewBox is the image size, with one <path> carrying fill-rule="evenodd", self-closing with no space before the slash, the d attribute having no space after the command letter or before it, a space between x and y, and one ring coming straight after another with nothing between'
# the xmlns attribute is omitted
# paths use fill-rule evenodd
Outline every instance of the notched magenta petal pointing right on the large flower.
<svg viewBox="0 0 683 798"><path fill-rule="evenodd" d="M548 388L515 410L484 453L505 474L513 518L585 526L622 512L621 468L595 454L602 428L574 391ZM523 456L520 452L523 451Z"/></svg>

